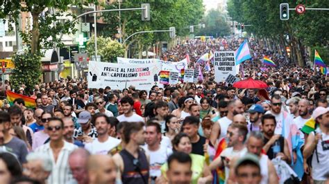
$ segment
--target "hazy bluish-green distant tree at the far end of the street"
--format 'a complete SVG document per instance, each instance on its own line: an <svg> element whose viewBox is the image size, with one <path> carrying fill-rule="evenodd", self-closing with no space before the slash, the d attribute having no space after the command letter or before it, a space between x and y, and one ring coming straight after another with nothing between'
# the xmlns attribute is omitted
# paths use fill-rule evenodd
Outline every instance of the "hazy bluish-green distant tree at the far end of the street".
<svg viewBox="0 0 329 184"><path fill-rule="evenodd" d="M225 15L219 10L210 10L203 18L203 23L207 26L199 30L199 35L223 37L230 35L230 26L226 21Z"/></svg>

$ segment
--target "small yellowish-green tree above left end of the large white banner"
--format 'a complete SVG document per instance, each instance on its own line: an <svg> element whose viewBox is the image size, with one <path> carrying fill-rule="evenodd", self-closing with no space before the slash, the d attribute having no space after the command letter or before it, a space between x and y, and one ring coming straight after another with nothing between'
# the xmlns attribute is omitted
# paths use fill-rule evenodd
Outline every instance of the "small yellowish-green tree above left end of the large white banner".
<svg viewBox="0 0 329 184"><path fill-rule="evenodd" d="M117 62L117 57L124 56L124 47L110 37L97 37L97 50L103 62L115 63ZM94 55L95 53L94 38L87 42L87 53L89 55Z"/></svg>

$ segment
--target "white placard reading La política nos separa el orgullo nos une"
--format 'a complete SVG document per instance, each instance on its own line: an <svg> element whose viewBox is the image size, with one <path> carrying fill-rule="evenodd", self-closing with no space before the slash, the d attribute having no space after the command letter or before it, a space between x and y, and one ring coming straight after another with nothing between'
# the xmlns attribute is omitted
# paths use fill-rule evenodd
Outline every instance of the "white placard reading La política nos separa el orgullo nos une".
<svg viewBox="0 0 329 184"><path fill-rule="evenodd" d="M234 51L216 51L214 53L214 80L224 82L228 75L235 75Z"/></svg>

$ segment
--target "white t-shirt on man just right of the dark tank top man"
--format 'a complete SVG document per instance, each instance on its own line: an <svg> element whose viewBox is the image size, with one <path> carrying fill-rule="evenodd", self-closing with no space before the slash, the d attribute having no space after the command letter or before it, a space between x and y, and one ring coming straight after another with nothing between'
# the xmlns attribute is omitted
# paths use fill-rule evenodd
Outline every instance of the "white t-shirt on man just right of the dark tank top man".
<svg viewBox="0 0 329 184"><path fill-rule="evenodd" d="M150 176L161 175L161 166L167 162L168 157L172 154L172 150L168 147L160 146L158 151L150 151L147 145L144 145L146 154L150 156Z"/></svg>

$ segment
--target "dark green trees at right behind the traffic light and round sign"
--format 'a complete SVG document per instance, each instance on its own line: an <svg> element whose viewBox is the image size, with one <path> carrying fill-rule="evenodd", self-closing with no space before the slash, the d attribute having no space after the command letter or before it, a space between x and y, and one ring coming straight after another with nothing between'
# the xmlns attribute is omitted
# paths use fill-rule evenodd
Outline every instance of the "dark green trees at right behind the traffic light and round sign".
<svg viewBox="0 0 329 184"><path fill-rule="evenodd" d="M235 21L251 24L246 27L248 33L256 37L270 40L281 48L290 46L292 61L303 66L305 48L307 46L327 46L329 29L329 12L321 10L306 10L305 14L298 15L294 10L289 11L289 20L280 20L280 0L229 0L228 12ZM295 8L305 1L289 1L289 8ZM328 8L329 0L307 1L306 8ZM286 39L289 37L289 39ZM314 52L314 50L312 50ZM311 53L310 53L311 54ZM287 55L287 53L285 53Z"/></svg>

